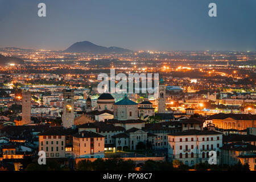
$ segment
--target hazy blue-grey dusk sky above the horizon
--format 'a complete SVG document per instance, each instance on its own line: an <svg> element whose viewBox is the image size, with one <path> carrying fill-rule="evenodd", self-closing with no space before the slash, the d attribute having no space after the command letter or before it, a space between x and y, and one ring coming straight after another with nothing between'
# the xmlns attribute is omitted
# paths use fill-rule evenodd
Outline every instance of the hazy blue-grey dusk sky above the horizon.
<svg viewBox="0 0 256 182"><path fill-rule="evenodd" d="M47 16L38 16L38 3ZM217 4L217 17L208 5ZM255 0L0 0L0 47L256 50Z"/></svg>

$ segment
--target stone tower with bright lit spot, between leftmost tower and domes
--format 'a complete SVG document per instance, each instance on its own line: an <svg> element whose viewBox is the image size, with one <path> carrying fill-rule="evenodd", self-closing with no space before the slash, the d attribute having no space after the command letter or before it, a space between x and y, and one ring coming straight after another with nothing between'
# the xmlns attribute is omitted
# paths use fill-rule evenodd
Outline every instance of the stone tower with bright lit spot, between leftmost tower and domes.
<svg viewBox="0 0 256 182"><path fill-rule="evenodd" d="M62 126L65 128L74 125L74 90L63 90Z"/></svg>

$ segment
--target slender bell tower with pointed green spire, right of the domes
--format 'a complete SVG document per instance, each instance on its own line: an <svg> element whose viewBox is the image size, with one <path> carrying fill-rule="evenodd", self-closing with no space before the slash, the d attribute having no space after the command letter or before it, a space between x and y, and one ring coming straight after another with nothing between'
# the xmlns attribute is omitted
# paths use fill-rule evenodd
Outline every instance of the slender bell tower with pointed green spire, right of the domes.
<svg viewBox="0 0 256 182"><path fill-rule="evenodd" d="M163 78L159 81L158 91L158 113L166 112L166 85L164 84Z"/></svg>

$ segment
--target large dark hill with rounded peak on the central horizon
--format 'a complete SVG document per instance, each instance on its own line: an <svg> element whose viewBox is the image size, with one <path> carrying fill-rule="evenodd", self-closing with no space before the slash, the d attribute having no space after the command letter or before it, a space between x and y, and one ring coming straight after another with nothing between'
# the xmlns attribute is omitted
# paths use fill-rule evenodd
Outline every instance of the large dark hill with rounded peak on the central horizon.
<svg viewBox="0 0 256 182"><path fill-rule="evenodd" d="M126 53L131 52L129 49L124 49L120 47L104 47L97 46L91 42L77 42L66 49L64 52L86 52L86 53Z"/></svg>

